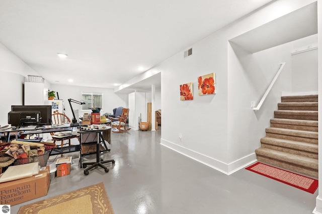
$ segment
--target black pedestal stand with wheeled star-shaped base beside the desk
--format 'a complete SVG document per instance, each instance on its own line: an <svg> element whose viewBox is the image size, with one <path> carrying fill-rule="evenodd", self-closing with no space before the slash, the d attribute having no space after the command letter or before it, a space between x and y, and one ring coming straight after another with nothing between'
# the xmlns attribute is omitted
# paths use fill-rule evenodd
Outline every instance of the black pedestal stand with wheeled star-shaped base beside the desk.
<svg viewBox="0 0 322 214"><path fill-rule="evenodd" d="M111 127L109 127L111 128ZM102 167L104 168L105 172L108 172L109 169L104 166L103 164L104 163L109 163L109 162L112 162L112 164L115 163L115 160L111 159L111 160L101 160L100 159L100 139L103 139L103 135L102 135L102 132L104 131L110 131L109 129L100 129L100 130L83 130L83 131L78 131L78 133L82 134L82 133L97 133L97 143L96 143L96 162L86 162L86 163L83 163L83 168L85 168L84 170L84 174L85 175L88 175L90 172L89 170L91 170L92 168L94 167ZM91 165L90 167L86 168L87 165Z"/></svg>

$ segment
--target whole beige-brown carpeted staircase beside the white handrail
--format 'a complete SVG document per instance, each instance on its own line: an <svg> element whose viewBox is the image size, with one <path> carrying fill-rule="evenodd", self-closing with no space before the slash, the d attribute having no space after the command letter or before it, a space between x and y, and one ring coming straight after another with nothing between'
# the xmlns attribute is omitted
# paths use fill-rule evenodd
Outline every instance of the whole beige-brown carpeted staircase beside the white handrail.
<svg viewBox="0 0 322 214"><path fill-rule="evenodd" d="M257 160L317 178L317 95L284 96Z"/></svg>

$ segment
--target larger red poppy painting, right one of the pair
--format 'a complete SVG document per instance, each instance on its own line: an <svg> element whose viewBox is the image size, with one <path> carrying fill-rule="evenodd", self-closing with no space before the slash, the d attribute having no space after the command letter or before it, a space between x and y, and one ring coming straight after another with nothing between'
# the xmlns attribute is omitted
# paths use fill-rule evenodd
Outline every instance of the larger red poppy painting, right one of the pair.
<svg viewBox="0 0 322 214"><path fill-rule="evenodd" d="M216 79L215 73L207 74L198 77L198 94L215 94L216 93Z"/></svg>

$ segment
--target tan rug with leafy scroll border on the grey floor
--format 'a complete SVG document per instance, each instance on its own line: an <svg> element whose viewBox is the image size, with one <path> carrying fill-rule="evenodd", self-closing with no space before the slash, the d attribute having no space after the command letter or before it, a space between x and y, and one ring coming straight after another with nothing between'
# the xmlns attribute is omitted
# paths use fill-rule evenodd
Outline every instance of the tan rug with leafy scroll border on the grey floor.
<svg viewBox="0 0 322 214"><path fill-rule="evenodd" d="M20 213L114 214L103 183L87 186L20 207Z"/></svg>

